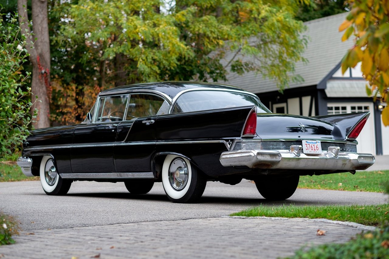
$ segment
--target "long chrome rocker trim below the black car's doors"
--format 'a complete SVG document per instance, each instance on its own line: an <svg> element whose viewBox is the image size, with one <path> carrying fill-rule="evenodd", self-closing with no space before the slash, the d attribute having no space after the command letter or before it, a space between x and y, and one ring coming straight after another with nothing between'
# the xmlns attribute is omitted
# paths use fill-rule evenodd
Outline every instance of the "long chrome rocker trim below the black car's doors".
<svg viewBox="0 0 389 259"><path fill-rule="evenodd" d="M60 174L63 179L130 179L154 178L152 172L123 172L123 173L70 173Z"/></svg>

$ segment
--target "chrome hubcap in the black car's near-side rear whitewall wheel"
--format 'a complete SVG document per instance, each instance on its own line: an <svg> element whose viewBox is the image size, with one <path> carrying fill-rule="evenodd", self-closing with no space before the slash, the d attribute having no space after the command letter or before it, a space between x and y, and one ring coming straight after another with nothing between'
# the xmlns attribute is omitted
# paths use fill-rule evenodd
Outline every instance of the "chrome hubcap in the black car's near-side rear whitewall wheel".
<svg viewBox="0 0 389 259"><path fill-rule="evenodd" d="M188 181L188 166L182 158L176 158L170 164L169 168L169 182L176 190L185 188Z"/></svg>

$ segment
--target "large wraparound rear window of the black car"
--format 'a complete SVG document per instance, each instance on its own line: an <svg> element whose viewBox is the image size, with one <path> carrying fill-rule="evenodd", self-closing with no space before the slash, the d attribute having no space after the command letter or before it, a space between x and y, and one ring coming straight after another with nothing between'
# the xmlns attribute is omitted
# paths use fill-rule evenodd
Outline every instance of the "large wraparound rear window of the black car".
<svg viewBox="0 0 389 259"><path fill-rule="evenodd" d="M259 98L250 94L226 91L189 91L182 94L173 107L173 113L207 111L242 106L257 106L258 113L271 113Z"/></svg>

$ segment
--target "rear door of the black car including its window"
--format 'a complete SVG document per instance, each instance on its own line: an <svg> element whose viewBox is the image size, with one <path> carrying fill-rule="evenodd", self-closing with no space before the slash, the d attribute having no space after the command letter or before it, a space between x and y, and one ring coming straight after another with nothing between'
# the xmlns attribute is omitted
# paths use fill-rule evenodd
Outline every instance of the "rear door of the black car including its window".
<svg viewBox="0 0 389 259"><path fill-rule="evenodd" d="M118 126L114 144L116 172L151 172L156 143L156 117L167 113L169 103L149 93L130 95L125 121Z"/></svg>

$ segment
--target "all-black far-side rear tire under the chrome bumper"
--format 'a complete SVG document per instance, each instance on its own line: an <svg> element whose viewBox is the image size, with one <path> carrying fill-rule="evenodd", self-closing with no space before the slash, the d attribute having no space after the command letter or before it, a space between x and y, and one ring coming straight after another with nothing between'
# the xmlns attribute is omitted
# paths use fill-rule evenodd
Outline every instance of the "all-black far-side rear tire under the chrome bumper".
<svg viewBox="0 0 389 259"><path fill-rule="evenodd" d="M259 193L267 200L285 200L293 195L300 176L293 174L286 177L266 176L255 180Z"/></svg>

